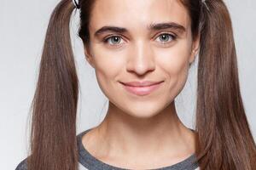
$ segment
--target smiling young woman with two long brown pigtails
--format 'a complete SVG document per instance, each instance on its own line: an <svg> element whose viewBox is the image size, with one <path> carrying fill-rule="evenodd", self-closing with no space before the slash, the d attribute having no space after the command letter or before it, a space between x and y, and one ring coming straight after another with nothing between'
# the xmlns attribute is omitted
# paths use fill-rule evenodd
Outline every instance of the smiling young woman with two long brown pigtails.
<svg viewBox="0 0 256 170"><path fill-rule="evenodd" d="M74 8L85 58L109 99L102 123L79 135ZM197 54L192 130L174 99ZM49 20L32 106L31 155L19 170L256 169L222 0L62 0Z"/></svg>

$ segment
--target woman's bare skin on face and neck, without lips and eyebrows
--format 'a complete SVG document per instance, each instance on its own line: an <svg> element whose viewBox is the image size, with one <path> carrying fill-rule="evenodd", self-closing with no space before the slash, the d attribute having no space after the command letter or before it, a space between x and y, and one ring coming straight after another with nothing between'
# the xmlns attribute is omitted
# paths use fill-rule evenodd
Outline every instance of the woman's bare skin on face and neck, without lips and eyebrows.
<svg viewBox="0 0 256 170"><path fill-rule="evenodd" d="M152 23L166 22L185 31L148 30ZM127 32L95 36L102 26ZM166 167L195 153L195 133L179 120L174 99L183 90L198 47L189 14L177 0L97 0L84 53L109 107L102 123L84 135L84 148L105 163L130 169ZM164 82L145 96L130 94L119 83L145 80Z"/></svg>

